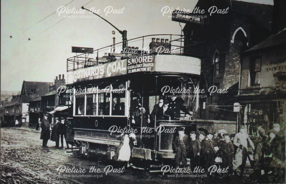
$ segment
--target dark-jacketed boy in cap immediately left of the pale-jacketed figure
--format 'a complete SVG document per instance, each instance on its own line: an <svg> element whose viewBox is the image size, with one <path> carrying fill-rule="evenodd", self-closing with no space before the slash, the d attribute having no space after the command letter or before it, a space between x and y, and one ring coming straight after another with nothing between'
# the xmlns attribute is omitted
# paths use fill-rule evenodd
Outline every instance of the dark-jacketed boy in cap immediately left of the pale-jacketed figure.
<svg viewBox="0 0 286 184"><path fill-rule="evenodd" d="M224 144L224 156L223 156L223 166L224 168L229 167L229 174L231 175L233 172L233 159L234 159L234 146L231 142L231 138L229 134L223 135L225 138Z"/></svg>

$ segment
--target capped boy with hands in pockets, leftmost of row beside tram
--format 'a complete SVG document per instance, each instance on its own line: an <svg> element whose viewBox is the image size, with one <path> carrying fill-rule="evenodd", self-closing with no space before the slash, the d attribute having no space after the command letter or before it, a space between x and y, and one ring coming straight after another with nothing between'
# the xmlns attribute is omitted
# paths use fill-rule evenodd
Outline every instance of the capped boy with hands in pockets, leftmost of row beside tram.
<svg viewBox="0 0 286 184"><path fill-rule="evenodd" d="M182 161L183 167L187 164L187 149L189 145L188 136L184 132L184 128L180 127L178 130L179 135L173 141L173 148L176 151L175 161L177 168Z"/></svg>

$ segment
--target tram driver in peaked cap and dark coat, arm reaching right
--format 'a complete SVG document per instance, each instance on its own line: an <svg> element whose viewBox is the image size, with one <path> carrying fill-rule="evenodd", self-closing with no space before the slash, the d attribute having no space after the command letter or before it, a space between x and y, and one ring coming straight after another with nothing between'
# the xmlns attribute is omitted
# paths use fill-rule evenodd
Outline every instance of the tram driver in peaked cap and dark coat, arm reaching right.
<svg viewBox="0 0 286 184"><path fill-rule="evenodd" d="M182 100L182 98L177 98L176 94L174 93L172 94L170 105L169 105L169 108L172 111L171 120L180 120L181 110L190 116L193 114L193 112L188 111L188 109L183 106L183 103L184 103L184 100Z"/></svg>

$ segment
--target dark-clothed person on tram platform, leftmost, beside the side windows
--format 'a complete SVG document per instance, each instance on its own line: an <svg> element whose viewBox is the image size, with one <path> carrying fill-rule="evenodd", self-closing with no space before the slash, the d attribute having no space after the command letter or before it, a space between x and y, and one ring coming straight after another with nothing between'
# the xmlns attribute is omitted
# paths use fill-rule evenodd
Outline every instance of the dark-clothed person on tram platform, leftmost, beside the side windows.
<svg viewBox="0 0 286 184"><path fill-rule="evenodd" d="M136 91L134 90L134 92ZM140 92L136 92L136 96L130 103L131 123L135 124L136 127L141 127L142 118L142 127L147 127L147 124L150 123L149 108L146 105L142 106L142 95Z"/></svg>

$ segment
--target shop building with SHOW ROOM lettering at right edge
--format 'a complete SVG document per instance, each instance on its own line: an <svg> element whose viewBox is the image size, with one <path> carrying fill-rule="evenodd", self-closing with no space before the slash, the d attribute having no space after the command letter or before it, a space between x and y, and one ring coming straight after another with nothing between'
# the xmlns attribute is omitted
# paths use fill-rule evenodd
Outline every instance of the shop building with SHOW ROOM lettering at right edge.
<svg viewBox="0 0 286 184"><path fill-rule="evenodd" d="M255 136L258 126L266 130L286 122L286 29L241 54L238 99L241 123Z"/></svg>

